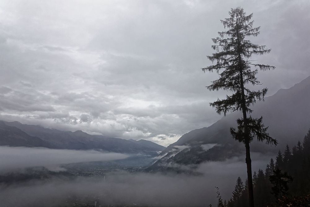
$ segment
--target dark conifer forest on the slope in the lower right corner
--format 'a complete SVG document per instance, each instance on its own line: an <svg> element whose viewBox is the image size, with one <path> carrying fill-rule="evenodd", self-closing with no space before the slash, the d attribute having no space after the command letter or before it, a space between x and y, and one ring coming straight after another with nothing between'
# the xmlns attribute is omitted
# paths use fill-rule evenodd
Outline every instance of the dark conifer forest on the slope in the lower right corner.
<svg viewBox="0 0 310 207"><path fill-rule="evenodd" d="M286 145L265 170L253 173L253 192L255 207L310 206L310 129L303 143L298 142L292 149ZM238 177L232 197L224 206L248 206L247 194L247 180L243 184Z"/></svg>

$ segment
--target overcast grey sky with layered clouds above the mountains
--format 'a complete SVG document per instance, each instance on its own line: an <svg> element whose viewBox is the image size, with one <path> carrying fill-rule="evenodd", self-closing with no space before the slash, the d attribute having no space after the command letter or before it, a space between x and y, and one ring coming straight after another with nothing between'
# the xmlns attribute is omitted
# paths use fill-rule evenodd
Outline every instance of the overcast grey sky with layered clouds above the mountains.
<svg viewBox="0 0 310 207"><path fill-rule="evenodd" d="M268 95L310 75L310 1L1 1L0 119L162 145L221 118L211 38L241 6Z"/></svg>

